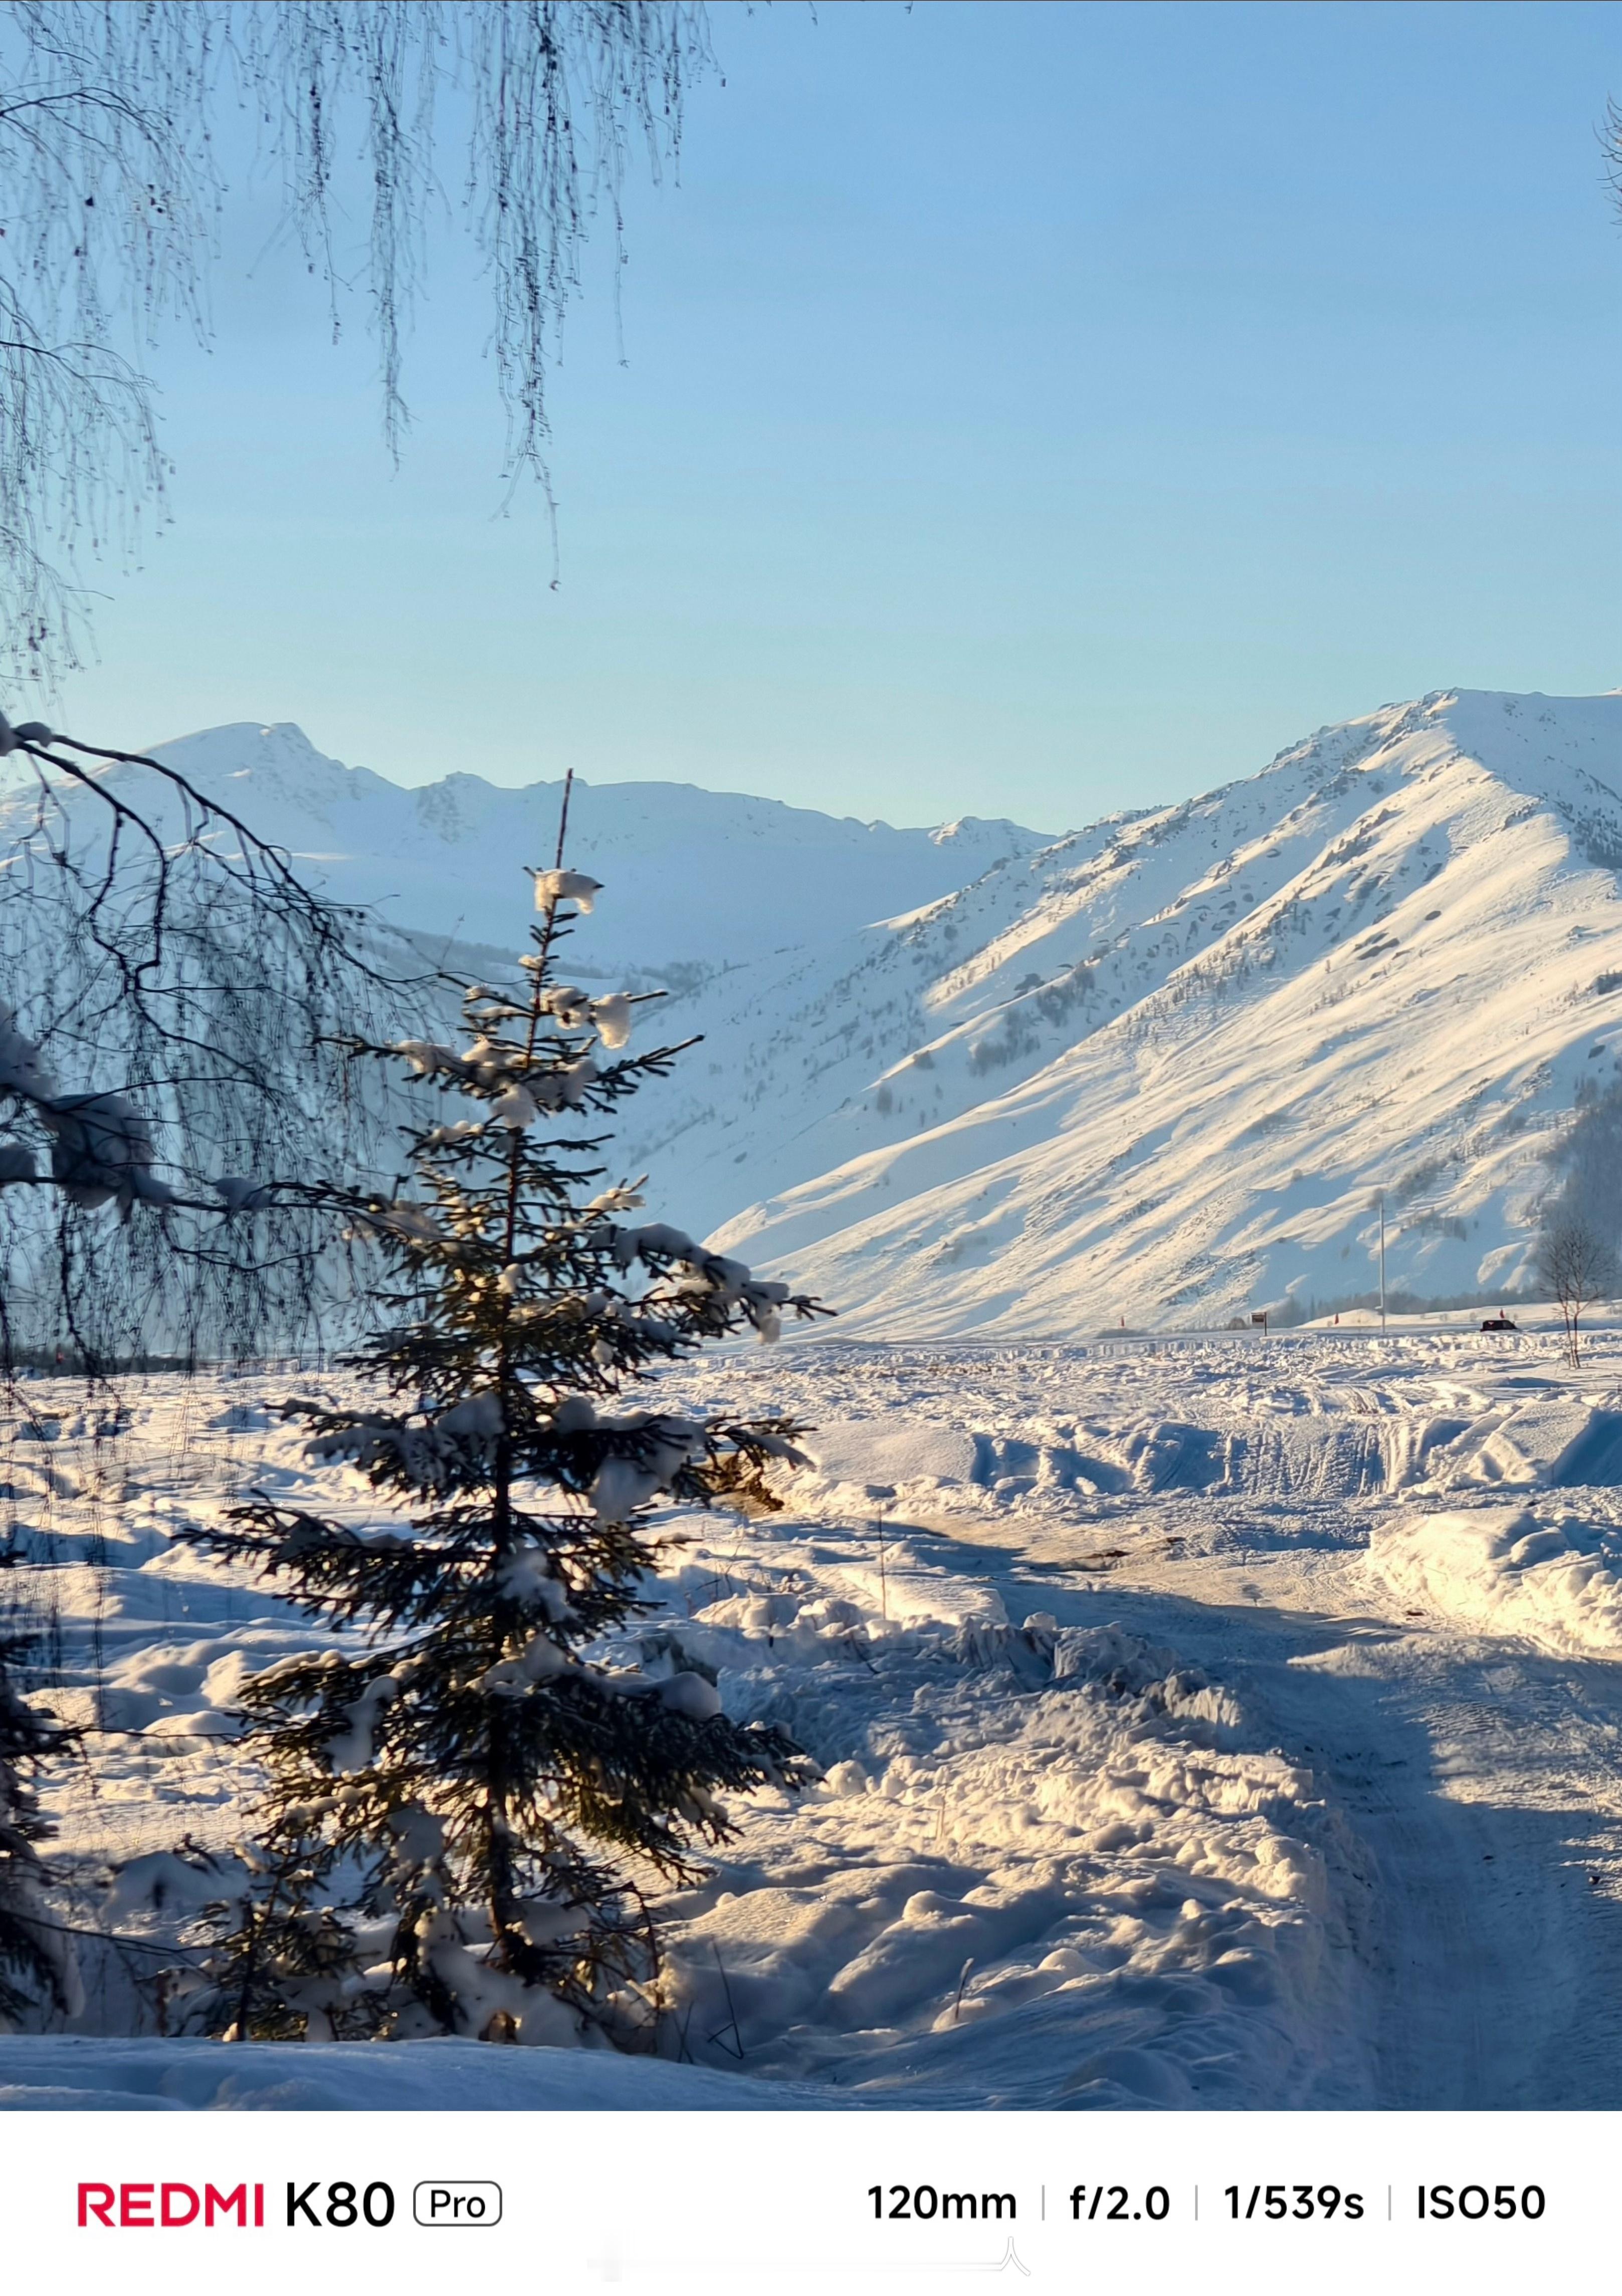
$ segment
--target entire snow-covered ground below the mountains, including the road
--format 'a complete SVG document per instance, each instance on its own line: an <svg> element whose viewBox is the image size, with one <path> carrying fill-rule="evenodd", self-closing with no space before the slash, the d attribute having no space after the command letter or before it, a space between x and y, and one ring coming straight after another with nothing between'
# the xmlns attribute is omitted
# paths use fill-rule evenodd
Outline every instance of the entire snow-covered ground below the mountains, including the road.
<svg viewBox="0 0 1622 2296"><path fill-rule="evenodd" d="M655 1901L657 2062L611 2064L156 2032L131 1972L172 1952L253 1795L237 1683L324 1639L168 1534L248 1488L384 1518L267 1410L308 1373L131 1382L117 1426L28 1382L0 1591L41 1632L41 1697L92 1731L94 1770L48 1793L87 2009L0 2039L0 2089L154 2110L1617 2103L1592 2004L1613 1867L1622 1887L1620 1375L1613 1334L1571 1373L1542 1336L1316 1332L818 1341L664 1378L678 1412L816 1421L811 1465L781 1513L671 1515L655 1607L600 1655L712 1678L822 1782L737 1800L710 1878ZM1519 2055L1450 2039L1450 1988L1473 1984L1477 2037L1537 1993Z"/></svg>

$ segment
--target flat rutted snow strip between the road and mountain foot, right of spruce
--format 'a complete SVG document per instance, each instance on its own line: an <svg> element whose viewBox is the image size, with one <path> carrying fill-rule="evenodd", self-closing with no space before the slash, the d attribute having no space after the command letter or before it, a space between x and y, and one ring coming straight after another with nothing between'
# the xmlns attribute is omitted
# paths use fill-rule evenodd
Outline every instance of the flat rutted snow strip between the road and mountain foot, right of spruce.
<svg viewBox="0 0 1622 2296"><path fill-rule="evenodd" d="M1594 1375L1567 1375L1558 1355L1551 1334L1482 1341L1473 1329L1401 1327L1388 1339L1307 1329L1268 1341L921 1345L875 1359L873 1384L887 1373L912 1384L905 1421L880 1430L836 1417L841 1382L855 1373L850 1391L862 1387L862 1355L818 1343L822 1378L795 1391L806 1412L813 1389L825 1401L802 1446L816 1474L797 1499L848 1513L873 1504L871 1486L891 1486L891 1508L949 1492L953 1508L1029 1502L1091 1520L1100 1499L1172 1492L1312 1504L1622 1481L1613 1373L1594 1391ZM986 1380L981 1366L1009 1368Z"/></svg>

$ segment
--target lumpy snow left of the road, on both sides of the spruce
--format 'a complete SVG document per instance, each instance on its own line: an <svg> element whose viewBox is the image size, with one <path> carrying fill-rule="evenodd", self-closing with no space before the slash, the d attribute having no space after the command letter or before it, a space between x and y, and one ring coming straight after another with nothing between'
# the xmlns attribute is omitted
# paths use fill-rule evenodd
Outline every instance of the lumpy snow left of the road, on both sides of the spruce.
<svg viewBox="0 0 1622 2296"><path fill-rule="evenodd" d="M39 1412L14 1444L16 1584L60 1651L51 1704L92 1729L94 1775L51 1791L83 1929L161 1947L211 1894L198 1857L230 1855L253 1793L237 1685L322 1639L168 1529L248 1483L374 1522L370 1486L310 1463L262 1407L283 1384L234 1382L227 1401L154 1380L119 1433ZM974 1458L928 1426L868 1428L866 1460L848 1430L862 1499L880 1467L949 1490L928 1469ZM680 1529L696 1543L650 1584L657 1609L604 1655L715 1676L825 1782L740 1802L715 1876L662 1903L662 2055L917 2103L1312 2092L1346 1846L1310 1768L1241 1699L1107 1623L1011 1626L979 1573L905 1534L800 1504ZM149 2027L126 1956L87 1940L85 1958L76 2025Z"/></svg>

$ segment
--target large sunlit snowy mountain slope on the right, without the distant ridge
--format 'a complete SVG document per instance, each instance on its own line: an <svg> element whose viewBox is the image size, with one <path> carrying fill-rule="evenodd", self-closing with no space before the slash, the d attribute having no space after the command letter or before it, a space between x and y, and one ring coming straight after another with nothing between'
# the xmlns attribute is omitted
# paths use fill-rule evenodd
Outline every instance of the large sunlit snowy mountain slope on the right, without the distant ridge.
<svg viewBox="0 0 1622 2296"><path fill-rule="evenodd" d="M1622 1107L1620 758L1622 696L1328 728L710 985L639 1164L887 1339L1367 1300L1381 1194L1392 1293L1514 1290L1548 1153Z"/></svg>

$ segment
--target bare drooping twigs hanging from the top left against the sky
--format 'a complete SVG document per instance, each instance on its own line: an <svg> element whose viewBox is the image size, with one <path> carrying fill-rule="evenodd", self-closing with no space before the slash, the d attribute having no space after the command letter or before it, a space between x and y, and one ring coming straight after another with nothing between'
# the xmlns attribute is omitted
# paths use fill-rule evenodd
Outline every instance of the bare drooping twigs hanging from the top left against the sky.
<svg viewBox="0 0 1622 2296"><path fill-rule="evenodd" d="M632 145L655 177L678 156L708 64L694 0L7 0L0 668L46 687L71 668L87 563L129 553L163 505L145 356L168 319L209 335L232 108L280 174L333 331L345 292L365 294L391 452L427 220L453 204L434 113L455 113L510 494L526 471L547 487L547 374L593 216L618 241ZM370 209L358 250L352 193Z"/></svg>

